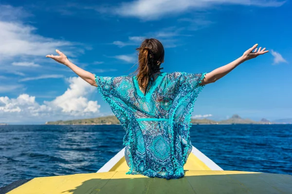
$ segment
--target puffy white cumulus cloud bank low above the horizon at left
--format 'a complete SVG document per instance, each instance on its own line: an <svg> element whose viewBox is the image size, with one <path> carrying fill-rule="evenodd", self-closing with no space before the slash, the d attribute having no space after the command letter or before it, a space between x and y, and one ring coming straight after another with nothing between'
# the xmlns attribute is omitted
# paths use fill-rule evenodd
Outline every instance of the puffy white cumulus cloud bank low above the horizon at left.
<svg viewBox="0 0 292 194"><path fill-rule="evenodd" d="M0 122L10 122L18 118L19 122L71 119L75 116L93 116L99 113L97 101L87 96L96 88L80 77L67 79L70 83L67 91L52 101L39 104L36 97L21 94L17 98L0 97Z"/></svg>

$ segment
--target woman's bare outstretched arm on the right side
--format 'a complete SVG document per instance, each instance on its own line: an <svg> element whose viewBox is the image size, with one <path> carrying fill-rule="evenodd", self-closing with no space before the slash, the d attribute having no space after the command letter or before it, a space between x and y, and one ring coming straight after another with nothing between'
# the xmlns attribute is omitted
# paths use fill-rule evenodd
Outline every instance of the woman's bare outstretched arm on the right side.
<svg viewBox="0 0 292 194"><path fill-rule="evenodd" d="M230 64L221 66L221 67L211 71L210 73L207 73L205 75L205 79L202 80L200 85L206 85L208 83L213 83L213 82L219 80L220 78L224 77L225 75L227 75L230 71L232 71L239 64L242 64L243 62L245 62L247 60L256 58L258 55L265 54L265 53L269 52L268 50L265 51L266 48L261 49L261 47L260 47L257 50L256 47L257 47L257 44L254 45L252 48L248 49L247 51L245 51L243 53L243 55L241 57L239 57L237 60L231 62ZM255 51L253 52L254 49L255 49Z"/></svg>

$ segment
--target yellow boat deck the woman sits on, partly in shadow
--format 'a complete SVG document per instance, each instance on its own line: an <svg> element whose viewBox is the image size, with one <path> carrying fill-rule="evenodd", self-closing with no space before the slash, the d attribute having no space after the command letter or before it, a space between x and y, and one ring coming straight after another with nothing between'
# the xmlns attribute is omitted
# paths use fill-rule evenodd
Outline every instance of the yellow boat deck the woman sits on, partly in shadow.
<svg viewBox="0 0 292 194"><path fill-rule="evenodd" d="M194 154L185 177L166 180L126 175L125 157L109 172L34 178L8 194L292 194L292 176L210 170Z"/></svg>

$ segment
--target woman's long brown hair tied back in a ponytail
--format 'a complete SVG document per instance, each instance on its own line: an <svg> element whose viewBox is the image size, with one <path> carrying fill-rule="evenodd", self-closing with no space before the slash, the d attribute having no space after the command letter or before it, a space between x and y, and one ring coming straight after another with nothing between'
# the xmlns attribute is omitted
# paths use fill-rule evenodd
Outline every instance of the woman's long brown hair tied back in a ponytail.
<svg viewBox="0 0 292 194"><path fill-rule="evenodd" d="M163 69L160 68L160 65L164 61L164 47L159 40L150 38L145 39L136 50L139 51L136 78L139 86L145 88L146 94L152 74Z"/></svg>

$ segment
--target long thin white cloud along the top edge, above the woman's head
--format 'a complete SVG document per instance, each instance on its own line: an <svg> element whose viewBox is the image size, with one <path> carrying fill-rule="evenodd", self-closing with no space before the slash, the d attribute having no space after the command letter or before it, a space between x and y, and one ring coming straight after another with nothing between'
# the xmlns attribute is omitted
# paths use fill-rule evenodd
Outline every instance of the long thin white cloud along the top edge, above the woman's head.
<svg viewBox="0 0 292 194"><path fill-rule="evenodd" d="M113 13L121 16L138 17L144 20L158 19L161 16L179 14L188 10L200 10L219 4L254 5L260 7L279 7L286 1L277 0L134 0L123 2Z"/></svg>

